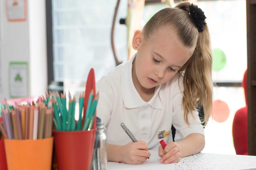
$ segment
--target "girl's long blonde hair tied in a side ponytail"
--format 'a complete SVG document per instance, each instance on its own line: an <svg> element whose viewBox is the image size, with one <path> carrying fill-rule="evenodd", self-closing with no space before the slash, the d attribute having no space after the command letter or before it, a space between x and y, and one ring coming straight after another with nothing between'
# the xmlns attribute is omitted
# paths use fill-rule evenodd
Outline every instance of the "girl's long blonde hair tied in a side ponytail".
<svg viewBox="0 0 256 170"><path fill-rule="evenodd" d="M189 60L179 70L183 74L184 92L182 106L184 119L189 125L188 115L203 106L206 125L211 114L213 82L212 54L208 26L202 32L189 14L189 2L181 2L175 8L165 8L157 12L144 26L144 39L148 39L158 29L173 26L177 36L193 52ZM195 5L194 5L195 6ZM193 115L193 114L192 114Z"/></svg>

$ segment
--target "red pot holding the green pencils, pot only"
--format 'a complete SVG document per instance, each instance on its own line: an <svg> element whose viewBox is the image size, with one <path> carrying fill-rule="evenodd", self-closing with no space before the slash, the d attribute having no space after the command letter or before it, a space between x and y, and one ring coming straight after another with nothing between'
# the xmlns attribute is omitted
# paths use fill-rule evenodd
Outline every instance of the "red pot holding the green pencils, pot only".
<svg viewBox="0 0 256 170"><path fill-rule="evenodd" d="M58 170L89 170L96 129L53 131Z"/></svg>

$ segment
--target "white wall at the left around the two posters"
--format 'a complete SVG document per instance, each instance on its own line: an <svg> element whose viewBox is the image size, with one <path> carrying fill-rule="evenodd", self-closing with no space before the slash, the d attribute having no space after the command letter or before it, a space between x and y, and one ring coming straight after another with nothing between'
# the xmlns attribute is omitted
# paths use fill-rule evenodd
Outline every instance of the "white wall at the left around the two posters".
<svg viewBox="0 0 256 170"><path fill-rule="evenodd" d="M9 63L28 63L28 96L47 90L45 1L26 0L27 19L9 22L6 1L0 1L0 100L10 98Z"/></svg>

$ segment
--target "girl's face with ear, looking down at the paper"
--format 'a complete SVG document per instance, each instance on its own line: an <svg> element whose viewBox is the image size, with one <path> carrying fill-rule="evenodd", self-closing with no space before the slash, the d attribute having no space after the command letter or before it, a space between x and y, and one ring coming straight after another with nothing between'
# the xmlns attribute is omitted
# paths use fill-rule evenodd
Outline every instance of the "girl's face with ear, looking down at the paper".
<svg viewBox="0 0 256 170"><path fill-rule="evenodd" d="M136 31L133 47L138 50L132 68L133 82L135 87L144 89L171 80L193 52L181 43L170 26L159 29L147 40Z"/></svg>

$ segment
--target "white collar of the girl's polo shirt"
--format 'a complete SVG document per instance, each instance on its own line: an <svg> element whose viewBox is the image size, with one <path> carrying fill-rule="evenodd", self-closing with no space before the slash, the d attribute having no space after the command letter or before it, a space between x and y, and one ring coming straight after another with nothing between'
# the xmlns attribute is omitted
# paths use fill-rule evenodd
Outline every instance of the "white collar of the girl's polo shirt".
<svg viewBox="0 0 256 170"><path fill-rule="evenodd" d="M132 62L134 61L135 57L136 54L134 54L132 58L124 64L122 69L121 87L125 107L137 108L148 103L155 109L162 109L162 101L159 96L161 85L156 87L154 96L148 102L143 101L137 92L132 81Z"/></svg>

